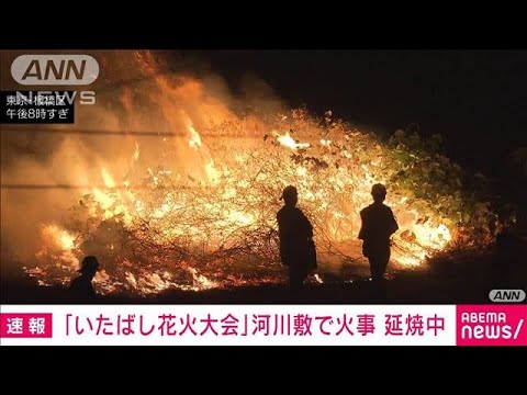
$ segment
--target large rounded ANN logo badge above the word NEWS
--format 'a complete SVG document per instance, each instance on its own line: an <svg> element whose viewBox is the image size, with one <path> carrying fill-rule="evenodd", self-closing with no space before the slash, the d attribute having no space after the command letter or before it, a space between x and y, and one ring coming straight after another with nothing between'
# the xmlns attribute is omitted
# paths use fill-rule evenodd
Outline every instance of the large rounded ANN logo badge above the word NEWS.
<svg viewBox="0 0 527 395"><path fill-rule="evenodd" d="M22 55L11 65L13 79L25 86L82 86L99 76L99 64L89 55Z"/></svg>

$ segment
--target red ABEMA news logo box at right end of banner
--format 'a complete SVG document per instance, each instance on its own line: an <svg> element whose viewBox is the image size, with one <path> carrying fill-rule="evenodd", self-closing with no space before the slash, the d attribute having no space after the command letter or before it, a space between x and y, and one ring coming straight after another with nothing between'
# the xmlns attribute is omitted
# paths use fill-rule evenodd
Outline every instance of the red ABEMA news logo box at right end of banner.
<svg viewBox="0 0 527 395"><path fill-rule="evenodd" d="M458 346L527 346L527 305L458 305Z"/></svg>

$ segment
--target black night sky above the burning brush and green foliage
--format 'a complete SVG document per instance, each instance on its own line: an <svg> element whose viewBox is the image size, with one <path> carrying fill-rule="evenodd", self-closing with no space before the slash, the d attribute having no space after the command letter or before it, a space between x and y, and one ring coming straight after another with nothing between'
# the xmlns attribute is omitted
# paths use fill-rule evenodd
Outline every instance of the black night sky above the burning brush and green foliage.
<svg viewBox="0 0 527 395"><path fill-rule="evenodd" d="M450 157L495 171L527 146L526 50L200 52L236 91L266 80L289 104L393 133L417 123L440 133Z"/></svg>

